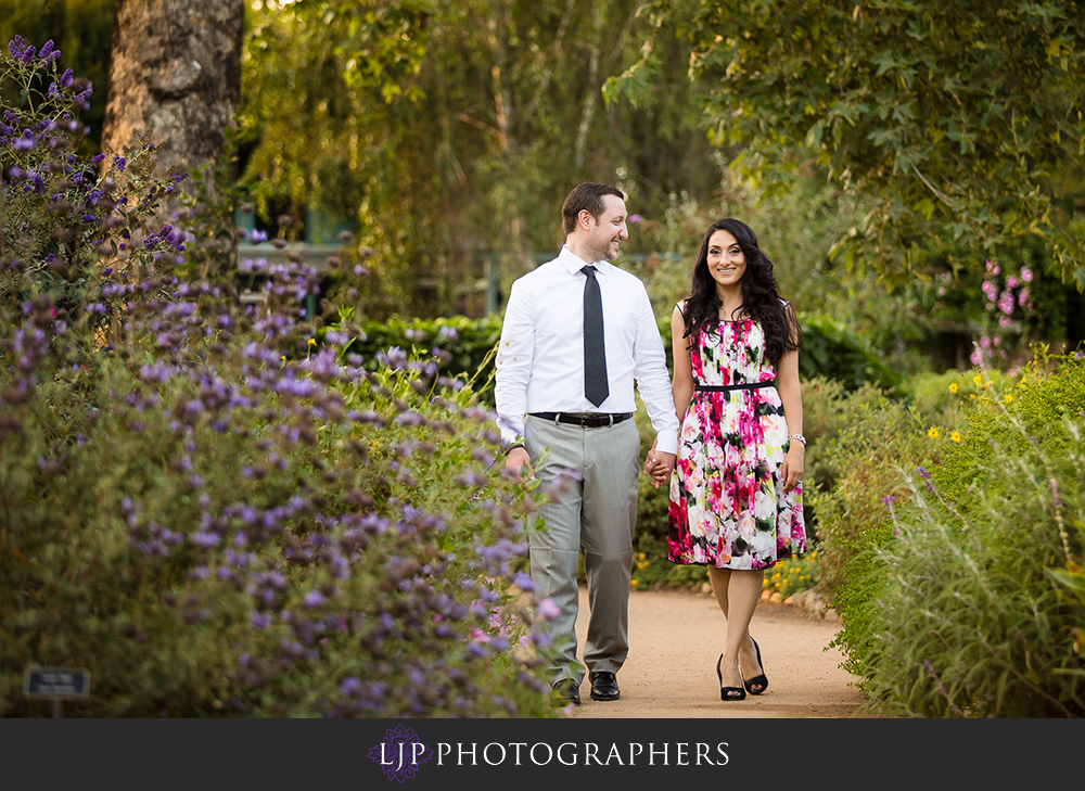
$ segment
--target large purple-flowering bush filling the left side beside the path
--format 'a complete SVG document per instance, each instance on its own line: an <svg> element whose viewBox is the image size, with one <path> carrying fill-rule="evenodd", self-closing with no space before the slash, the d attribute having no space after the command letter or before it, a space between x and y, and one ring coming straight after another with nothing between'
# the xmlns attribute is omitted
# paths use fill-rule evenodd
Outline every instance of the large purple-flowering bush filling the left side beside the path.
<svg viewBox="0 0 1085 791"><path fill-rule="evenodd" d="M69 715L550 716L534 501L476 394L318 344L305 267L247 263L251 305L197 277L180 221L141 231L176 178L80 162L89 87L42 49L0 64L0 715L67 666Z"/></svg>

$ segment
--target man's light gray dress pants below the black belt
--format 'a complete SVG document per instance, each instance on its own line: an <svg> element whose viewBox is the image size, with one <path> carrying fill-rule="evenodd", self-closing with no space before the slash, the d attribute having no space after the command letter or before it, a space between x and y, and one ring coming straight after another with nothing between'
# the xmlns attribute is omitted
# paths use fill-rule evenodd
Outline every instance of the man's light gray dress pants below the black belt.
<svg viewBox="0 0 1085 791"><path fill-rule="evenodd" d="M631 418L617 425L583 429L528 416L524 446L549 496L536 512L528 537L532 581L541 601L561 615L536 628L559 651L547 667L554 684L584 679L589 672L617 673L629 653L629 581L637 521L640 432ZM588 583L584 664L576 659L579 552Z"/></svg>

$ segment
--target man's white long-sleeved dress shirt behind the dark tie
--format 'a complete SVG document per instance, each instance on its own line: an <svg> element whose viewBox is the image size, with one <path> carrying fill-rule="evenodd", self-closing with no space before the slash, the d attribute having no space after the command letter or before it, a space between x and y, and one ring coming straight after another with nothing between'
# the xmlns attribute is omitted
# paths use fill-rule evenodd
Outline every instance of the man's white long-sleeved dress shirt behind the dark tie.
<svg viewBox="0 0 1085 791"><path fill-rule="evenodd" d="M512 284L497 353L497 424L521 442L528 412L637 411L634 380L659 436L656 450L678 450L671 378L644 284L610 261L591 261L603 304L610 395L596 407L584 395L582 260L567 247Z"/></svg>

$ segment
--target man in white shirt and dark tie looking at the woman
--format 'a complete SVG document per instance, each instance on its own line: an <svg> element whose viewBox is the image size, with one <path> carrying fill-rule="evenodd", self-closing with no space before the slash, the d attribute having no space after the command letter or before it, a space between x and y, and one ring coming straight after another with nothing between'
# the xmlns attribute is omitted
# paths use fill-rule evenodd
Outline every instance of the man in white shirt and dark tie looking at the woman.
<svg viewBox="0 0 1085 791"><path fill-rule="evenodd" d="M585 665L592 700L621 694L640 470L634 380L656 431L656 464L673 470L678 449L648 292L611 264L629 238L622 192L579 184L565 199L562 222L561 254L512 284L495 390L506 469L516 481L553 484L540 508L545 528L531 534L529 545L535 595L560 610L536 623L559 647L547 668L556 705L579 704ZM590 608L584 664L575 633L582 548Z"/></svg>

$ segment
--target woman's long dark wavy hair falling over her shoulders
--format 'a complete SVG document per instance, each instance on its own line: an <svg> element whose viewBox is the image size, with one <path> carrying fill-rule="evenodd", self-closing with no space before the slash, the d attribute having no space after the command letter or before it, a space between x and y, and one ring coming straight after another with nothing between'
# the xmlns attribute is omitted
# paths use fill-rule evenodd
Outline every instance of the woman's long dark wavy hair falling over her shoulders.
<svg viewBox="0 0 1085 791"><path fill-rule="evenodd" d="M761 252L757 237L750 226L737 219L718 219L709 226L704 234L701 251L693 263L693 288L686 302L686 332L682 337L689 337L693 343L702 329L711 331L719 324L719 294L716 293L716 281L709 273L709 240L719 230L735 237L742 248L746 264L742 276L742 310L761 322L765 332L765 356L777 366L786 353L799 350L802 329L794 309L780 302L773 261Z"/></svg>

